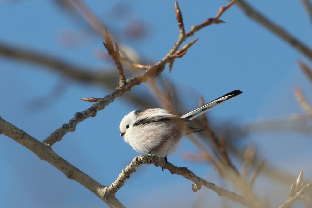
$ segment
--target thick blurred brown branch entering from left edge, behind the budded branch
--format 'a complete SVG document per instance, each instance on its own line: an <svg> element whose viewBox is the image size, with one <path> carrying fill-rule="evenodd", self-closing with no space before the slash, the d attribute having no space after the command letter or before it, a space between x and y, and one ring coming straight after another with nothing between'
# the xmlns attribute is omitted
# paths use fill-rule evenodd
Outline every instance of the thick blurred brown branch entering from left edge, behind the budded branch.
<svg viewBox="0 0 312 208"><path fill-rule="evenodd" d="M110 90L116 89L116 82L118 81L118 75L112 72L114 70L111 67L90 70L91 67L82 67L57 56L8 44L0 43L0 56L46 67L60 73L62 77L65 76L71 80L101 85ZM152 104L149 99L143 99L137 92L125 94L124 97L131 103L140 105L141 108L149 108Z"/></svg>

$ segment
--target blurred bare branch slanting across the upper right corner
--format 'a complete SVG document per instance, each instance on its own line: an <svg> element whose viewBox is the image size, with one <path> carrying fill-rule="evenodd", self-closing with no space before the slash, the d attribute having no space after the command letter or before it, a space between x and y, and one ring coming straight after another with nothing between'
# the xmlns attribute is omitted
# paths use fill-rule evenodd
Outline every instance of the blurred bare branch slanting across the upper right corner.
<svg viewBox="0 0 312 208"><path fill-rule="evenodd" d="M236 5L243 10L246 15L252 19L254 19L256 22L260 23L262 26L266 27L268 30L273 32L275 35L279 36L281 39L286 41L290 46L293 46L295 49L297 49L300 53L305 55L307 58L312 60L312 50L297 40L294 36L292 36L290 33L285 31L282 27L276 25L272 21L270 21L268 18L263 16L260 12L256 11L256 9L252 8L247 2L243 0L236 0Z"/></svg>

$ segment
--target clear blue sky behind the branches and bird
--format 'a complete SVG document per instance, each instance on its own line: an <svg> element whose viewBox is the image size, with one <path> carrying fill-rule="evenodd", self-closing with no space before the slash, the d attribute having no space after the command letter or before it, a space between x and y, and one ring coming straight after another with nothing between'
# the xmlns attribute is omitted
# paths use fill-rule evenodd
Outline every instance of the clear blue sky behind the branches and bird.
<svg viewBox="0 0 312 208"><path fill-rule="evenodd" d="M251 1L250 1L251 2ZM158 61L165 56L178 39L178 26L174 1L85 1L103 24L119 37L122 45L129 46L147 60ZM227 1L178 1L186 31L214 17ZM284 27L287 31L311 45L311 22L300 1L253 1L252 5ZM126 5L124 17L114 16L116 5ZM108 61L95 57L103 50L100 37L88 34L87 24L71 17L54 1L1 1L0 41L25 47L44 54L61 57L76 65L99 69L111 67ZM220 18L226 24L203 28L187 42L199 38L187 54L176 59L172 72L168 66L163 76L173 81L181 100L189 110L197 108L198 97L213 100L232 90L243 94L209 112L213 124L231 122L246 125L266 119L287 119L290 114L304 113L293 95L294 86L300 86L308 100L311 83L300 71L297 60L310 62L277 36L245 16L235 5ZM123 28L142 21L147 35L141 40L126 38ZM79 42L64 46L61 38L74 34ZM104 97L110 90L97 85L67 80L61 74L45 67L31 65L0 56L0 116L43 141L56 128L67 123L78 111L91 103L80 98ZM116 71L117 73L117 71ZM130 78L130 77L127 77ZM60 83L60 95L48 104L43 98ZM116 83L117 85L117 83ZM147 85L132 90L147 91ZM35 110L30 106L35 106ZM153 107L159 107L155 102ZM61 157L103 185L110 185L121 170L138 155L119 136L119 122L130 111L138 109L126 99L98 112L94 118L78 124L76 131L68 133L53 146ZM187 113L187 112L184 112ZM1 207L107 207L100 199L76 181L68 180L56 168L41 161L32 152L0 135L0 206ZM245 138L253 143L259 157L267 164L290 174L298 175L305 169L304 178L312 179L310 147L311 135L300 133L255 133ZM242 145L243 146L243 145ZM243 150L243 148L241 148ZM197 149L184 139L169 161L188 167L198 176L230 190L233 188L218 177L210 164L194 164L183 160L183 151ZM236 165L240 167L239 161ZM295 178L294 178L295 180ZM290 185L289 185L290 186ZM263 199L269 195L271 206L279 206L288 198L288 188L261 175L255 190ZM270 188L268 188L270 187ZM157 197L156 197L157 196ZM203 200L201 196L204 197ZM221 206L217 194L209 190L191 191L191 182L181 176L171 175L153 165L143 166L131 175L116 197L126 207L202 207ZM159 202L159 197L162 199ZM134 200L135 199L135 200ZM196 203L195 203L196 202ZM231 204L235 206L235 204ZM299 202L295 206L302 206Z"/></svg>

